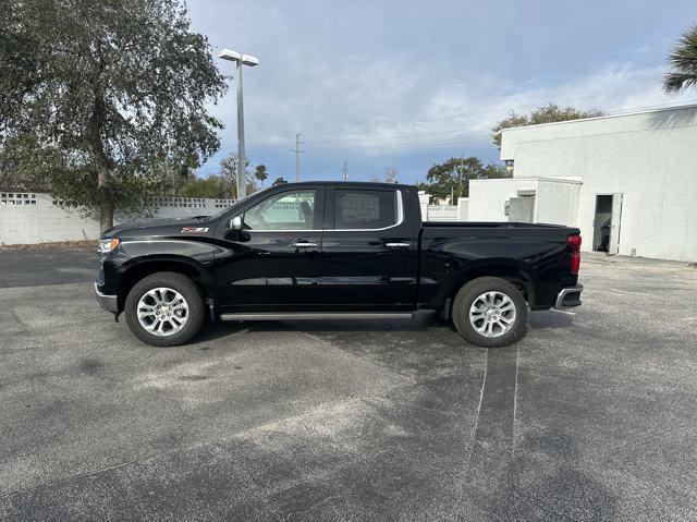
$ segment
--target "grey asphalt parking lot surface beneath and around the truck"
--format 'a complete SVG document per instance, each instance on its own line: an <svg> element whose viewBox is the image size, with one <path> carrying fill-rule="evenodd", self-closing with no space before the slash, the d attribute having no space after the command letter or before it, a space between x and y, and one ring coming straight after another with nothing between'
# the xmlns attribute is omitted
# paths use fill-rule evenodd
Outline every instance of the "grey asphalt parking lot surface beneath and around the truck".
<svg viewBox="0 0 697 522"><path fill-rule="evenodd" d="M96 263L0 252L2 520L697 519L685 264L585 255L575 315L487 351L427 316L156 349Z"/></svg>

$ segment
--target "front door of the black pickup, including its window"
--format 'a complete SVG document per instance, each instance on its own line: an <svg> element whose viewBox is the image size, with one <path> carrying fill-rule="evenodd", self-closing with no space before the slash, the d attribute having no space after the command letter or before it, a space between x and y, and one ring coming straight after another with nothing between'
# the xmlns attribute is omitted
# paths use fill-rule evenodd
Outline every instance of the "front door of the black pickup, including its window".
<svg viewBox="0 0 697 522"><path fill-rule="evenodd" d="M323 199L323 189L274 192L244 211L242 231L218 227L223 312L294 311L318 302Z"/></svg>

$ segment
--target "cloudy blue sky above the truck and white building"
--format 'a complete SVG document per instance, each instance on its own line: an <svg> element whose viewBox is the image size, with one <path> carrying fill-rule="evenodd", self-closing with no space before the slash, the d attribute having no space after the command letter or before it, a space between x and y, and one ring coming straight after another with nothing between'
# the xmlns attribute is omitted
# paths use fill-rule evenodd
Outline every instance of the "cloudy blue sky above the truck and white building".
<svg viewBox="0 0 697 522"><path fill-rule="evenodd" d="M259 58L245 68L252 165L304 180L424 180L451 156L497 161L490 128L511 110L554 101L606 112L697 102L661 92L665 56L690 23L695 0L266 1L189 0L193 29L216 54ZM220 63L225 74L234 65ZM231 89L212 112L236 150Z"/></svg>

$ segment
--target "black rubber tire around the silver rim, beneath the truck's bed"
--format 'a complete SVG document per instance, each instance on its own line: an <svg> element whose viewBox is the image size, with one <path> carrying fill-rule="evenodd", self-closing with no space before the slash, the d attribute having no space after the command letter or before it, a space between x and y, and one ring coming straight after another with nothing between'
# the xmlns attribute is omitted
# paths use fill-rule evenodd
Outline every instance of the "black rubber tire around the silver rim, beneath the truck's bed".
<svg viewBox="0 0 697 522"><path fill-rule="evenodd" d="M469 319L469 311L474 302L487 292L499 292L513 301L515 305L515 318L512 320L510 329L497 337L487 337L477 331L477 328ZM509 313L510 314L510 313ZM525 296L511 282L497 277L481 277L473 279L460 289L453 301L452 311L453 323L457 332L469 343L482 348L501 348L519 341L527 330L527 303ZM511 317L510 315L508 316ZM484 325L475 321L476 325ZM503 324L502 321L500 324ZM500 326L496 326L498 331L503 331Z"/></svg>

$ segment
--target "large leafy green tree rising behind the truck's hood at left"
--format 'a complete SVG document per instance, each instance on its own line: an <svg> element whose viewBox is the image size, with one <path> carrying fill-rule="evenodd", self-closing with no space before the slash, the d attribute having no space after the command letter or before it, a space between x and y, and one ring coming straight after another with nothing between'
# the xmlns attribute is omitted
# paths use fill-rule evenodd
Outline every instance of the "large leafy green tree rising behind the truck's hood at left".
<svg viewBox="0 0 697 522"><path fill-rule="evenodd" d="M0 35L0 156L101 230L219 148L227 83L179 0L2 2Z"/></svg>

